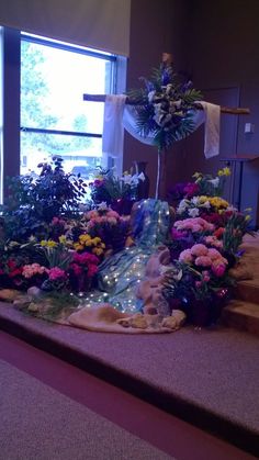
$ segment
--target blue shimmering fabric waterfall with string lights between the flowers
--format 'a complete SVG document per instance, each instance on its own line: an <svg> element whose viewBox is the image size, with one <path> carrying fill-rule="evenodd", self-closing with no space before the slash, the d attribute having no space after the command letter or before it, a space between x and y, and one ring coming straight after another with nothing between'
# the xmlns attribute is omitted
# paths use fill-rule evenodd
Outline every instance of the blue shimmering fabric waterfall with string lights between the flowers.
<svg viewBox="0 0 259 460"><path fill-rule="evenodd" d="M166 242L170 224L169 205L166 201L142 200L135 204L131 220L135 246L121 250L101 263L98 290L86 300L89 306L92 302L109 302L123 312L142 311L143 301L136 298L136 289L145 278L150 255Z"/></svg>

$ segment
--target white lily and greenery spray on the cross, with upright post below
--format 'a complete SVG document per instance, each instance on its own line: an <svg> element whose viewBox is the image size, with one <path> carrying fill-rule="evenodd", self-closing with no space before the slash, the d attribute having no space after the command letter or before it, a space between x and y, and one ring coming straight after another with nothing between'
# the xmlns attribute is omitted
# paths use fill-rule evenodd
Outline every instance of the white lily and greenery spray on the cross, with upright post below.
<svg viewBox="0 0 259 460"><path fill-rule="evenodd" d="M135 127L143 137L151 136L158 149L156 195L160 197L161 181L165 181L165 155L174 142L191 134L195 124L193 116L201 91L191 81L182 81L174 71L168 55L150 78L140 78L144 88L131 89L127 94L134 104Z"/></svg>

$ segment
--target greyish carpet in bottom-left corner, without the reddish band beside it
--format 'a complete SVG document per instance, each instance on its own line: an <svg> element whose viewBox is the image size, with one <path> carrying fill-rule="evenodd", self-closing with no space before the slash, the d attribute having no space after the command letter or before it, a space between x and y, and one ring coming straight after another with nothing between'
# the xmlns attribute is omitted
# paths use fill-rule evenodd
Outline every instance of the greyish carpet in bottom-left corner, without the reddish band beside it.
<svg viewBox="0 0 259 460"><path fill-rule="evenodd" d="M2 460L171 458L1 360L0 385Z"/></svg>

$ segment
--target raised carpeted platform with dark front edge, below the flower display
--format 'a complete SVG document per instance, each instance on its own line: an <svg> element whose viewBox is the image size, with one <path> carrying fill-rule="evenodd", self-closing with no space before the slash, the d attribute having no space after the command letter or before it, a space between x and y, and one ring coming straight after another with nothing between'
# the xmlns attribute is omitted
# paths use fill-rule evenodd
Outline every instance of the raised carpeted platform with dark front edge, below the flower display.
<svg viewBox="0 0 259 460"><path fill-rule="evenodd" d="M258 339L229 328L130 336L89 333L0 305L0 327L258 455Z"/></svg>

